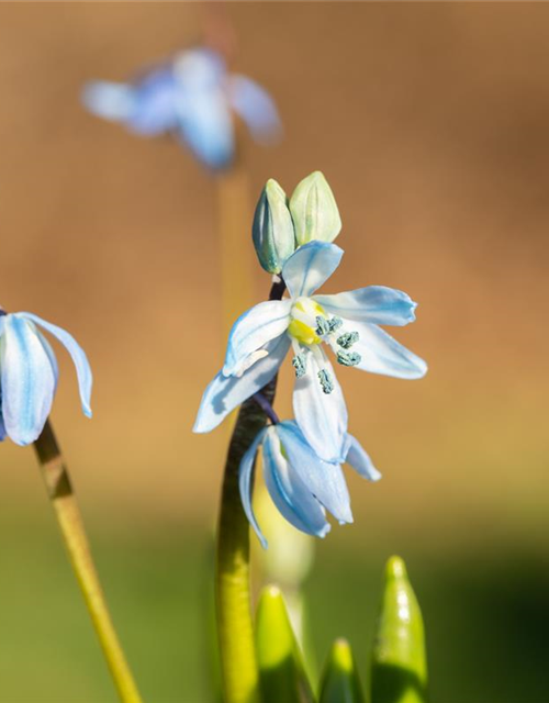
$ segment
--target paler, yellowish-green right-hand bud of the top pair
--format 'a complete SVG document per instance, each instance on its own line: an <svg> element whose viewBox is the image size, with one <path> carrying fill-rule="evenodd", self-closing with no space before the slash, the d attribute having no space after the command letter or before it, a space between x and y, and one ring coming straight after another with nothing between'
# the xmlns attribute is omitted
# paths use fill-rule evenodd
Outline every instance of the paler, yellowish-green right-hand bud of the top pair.
<svg viewBox="0 0 549 703"><path fill-rule="evenodd" d="M333 242L341 231L336 199L321 171L299 183L290 199L290 211L300 246L313 239Z"/></svg>

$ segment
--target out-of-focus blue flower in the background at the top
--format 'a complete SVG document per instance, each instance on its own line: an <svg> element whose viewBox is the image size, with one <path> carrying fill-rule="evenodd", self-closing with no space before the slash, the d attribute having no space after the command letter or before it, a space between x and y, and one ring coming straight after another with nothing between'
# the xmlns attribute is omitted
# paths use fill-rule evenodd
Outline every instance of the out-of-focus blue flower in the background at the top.
<svg viewBox="0 0 549 703"><path fill-rule="evenodd" d="M175 134L213 169L233 159L233 113L257 142L271 142L281 130L269 93L246 76L229 75L222 56L206 48L178 54L132 83L90 82L82 100L93 114L137 134Z"/></svg>

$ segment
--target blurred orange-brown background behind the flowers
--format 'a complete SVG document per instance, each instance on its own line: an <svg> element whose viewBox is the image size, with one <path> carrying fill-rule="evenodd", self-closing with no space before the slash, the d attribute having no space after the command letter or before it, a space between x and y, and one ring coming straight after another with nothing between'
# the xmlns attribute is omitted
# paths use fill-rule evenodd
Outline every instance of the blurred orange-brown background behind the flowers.
<svg viewBox="0 0 549 703"><path fill-rule="evenodd" d="M235 68L268 87L285 125L277 148L245 145L251 204L269 177L291 192L323 170L346 250L326 290L382 283L421 303L395 336L428 360L426 379L341 373L350 428L384 478L349 476L356 523L329 539L365 558L513 547L546 563L549 8L228 12ZM214 518L227 434L191 426L224 354L216 183L169 140L87 114L79 92L200 32L197 3L0 7L0 302L71 331L90 357L93 421L64 352L53 419L83 510L107 532ZM250 304L269 287L251 275ZM287 368L282 414L290 383ZM0 510L49 524L32 450L1 451Z"/></svg>

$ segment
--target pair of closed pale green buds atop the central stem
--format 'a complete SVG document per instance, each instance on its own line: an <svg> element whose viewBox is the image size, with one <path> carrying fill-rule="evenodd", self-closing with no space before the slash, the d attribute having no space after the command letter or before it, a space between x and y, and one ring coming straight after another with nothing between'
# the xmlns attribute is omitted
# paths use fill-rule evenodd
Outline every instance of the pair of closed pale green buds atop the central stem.
<svg viewBox="0 0 549 703"><path fill-rule="evenodd" d="M333 242L341 219L330 187L321 171L304 178L290 201L272 178L267 181L254 215L251 236L257 257L269 274L280 274L284 261L314 239Z"/></svg>

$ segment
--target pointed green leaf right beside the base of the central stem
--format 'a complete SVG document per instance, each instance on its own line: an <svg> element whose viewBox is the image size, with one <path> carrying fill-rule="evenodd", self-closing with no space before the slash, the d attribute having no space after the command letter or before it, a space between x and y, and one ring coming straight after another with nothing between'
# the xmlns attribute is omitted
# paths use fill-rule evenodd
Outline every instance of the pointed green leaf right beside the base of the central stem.
<svg viewBox="0 0 549 703"><path fill-rule="evenodd" d="M276 585L259 598L256 646L262 703L313 703L284 599Z"/></svg>

